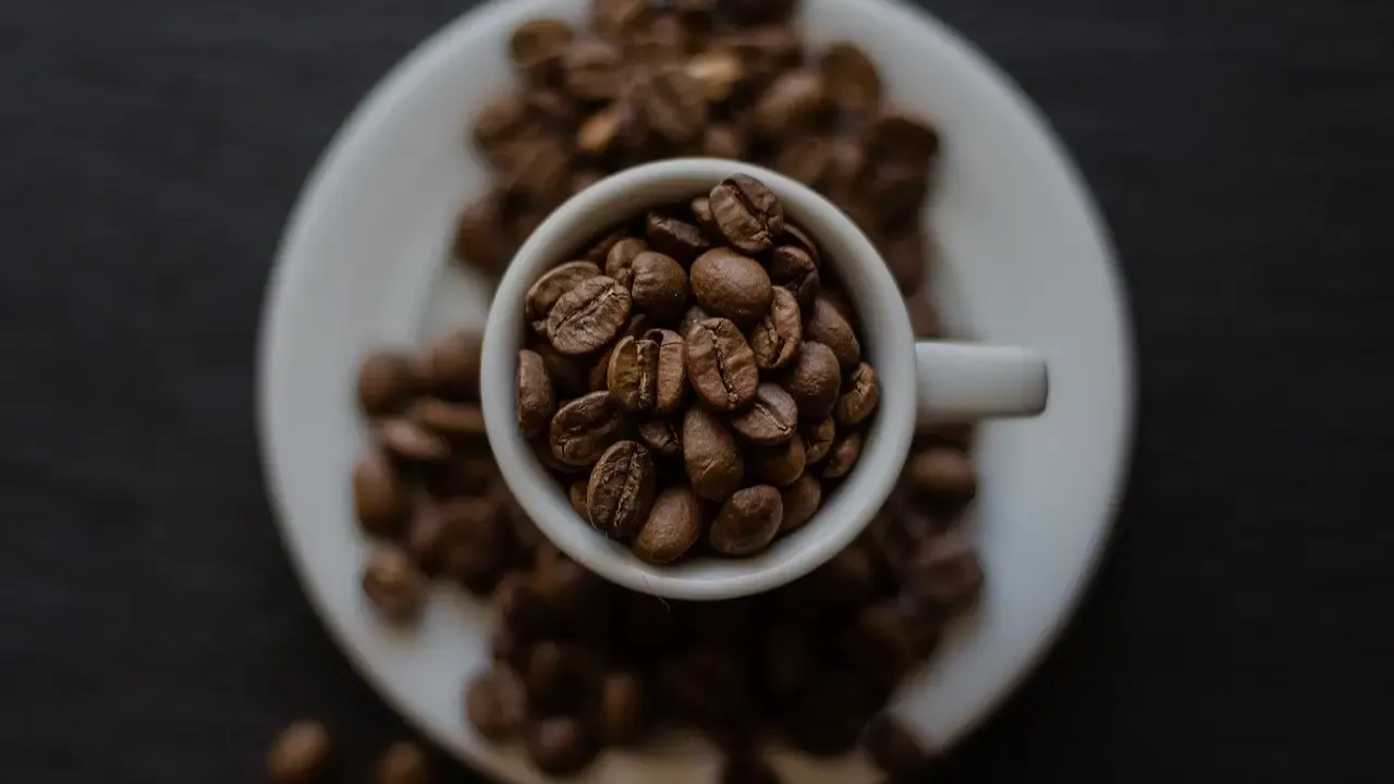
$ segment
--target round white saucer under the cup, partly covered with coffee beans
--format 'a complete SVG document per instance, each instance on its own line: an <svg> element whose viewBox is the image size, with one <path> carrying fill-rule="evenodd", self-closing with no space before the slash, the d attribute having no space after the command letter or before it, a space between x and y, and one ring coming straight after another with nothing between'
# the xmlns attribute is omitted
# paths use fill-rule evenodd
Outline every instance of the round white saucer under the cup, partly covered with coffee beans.
<svg viewBox="0 0 1394 784"><path fill-rule="evenodd" d="M261 333L259 430L287 548L358 671L441 746L507 781L534 783L520 751L464 723L460 686L487 660L485 610L445 589L420 629L378 624L358 593L364 541L350 470L365 434L353 400L360 356L482 325L489 292L449 266L456 209L485 169L464 128L507 89L507 32L581 0L495 1L431 38L368 96L311 176L286 232ZM1037 110L967 42L882 0L804 0L817 46L846 38L881 67L889 100L942 131L931 225L935 287L959 332L1048 357L1046 416L983 428L974 536L981 607L907 684L898 711L942 748L983 720L1046 651L1094 571L1126 469L1132 357L1105 227ZM874 781L864 760L774 762L789 781ZM606 753L579 781L710 784L694 738Z"/></svg>

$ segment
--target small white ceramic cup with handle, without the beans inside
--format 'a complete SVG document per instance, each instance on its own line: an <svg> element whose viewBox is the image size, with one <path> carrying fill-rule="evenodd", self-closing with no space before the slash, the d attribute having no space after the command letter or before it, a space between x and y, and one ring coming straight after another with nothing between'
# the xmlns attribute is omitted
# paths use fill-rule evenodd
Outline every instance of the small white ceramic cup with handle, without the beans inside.
<svg viewBox="0 0 1394 784"><path fill-rule="evenodd" d="M725 177L764 181L786 218L836 268L861 325L861 354L880 375L881 402L861 456L836 492L803 527L747 558L697 558L671 565L640 561L573 509L517 428L516 372L527 325L527 290L570 259L598 230L647 208L705 194ZM881 508L910 451L917 424L1032 416L1046 407L1046 361L1029 349L941 340L916 342L910 319L871 241L829 201L788 177L733 160L687 158L638 166L574 195L523 244L493 296L484 332L484 421L499 470L538 529L569 557L637 591L722 600L795 580L850 544Z"/></svg>

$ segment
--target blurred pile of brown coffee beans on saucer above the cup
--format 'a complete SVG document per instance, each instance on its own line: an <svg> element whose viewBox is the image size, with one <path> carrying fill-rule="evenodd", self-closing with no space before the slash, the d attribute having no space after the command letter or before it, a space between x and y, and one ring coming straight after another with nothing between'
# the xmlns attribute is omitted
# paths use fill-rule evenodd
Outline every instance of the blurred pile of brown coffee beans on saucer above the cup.
<svg viewBox="0 0 1394 784"><path fill-rule="evenodd" d="M502 275L553 208L606 174L683 155L747 160L852 216L907 294L917 331L937 332L921 294L920 213L940 135L884 100L855 43L810 52L796 13L796 0L591 0L585 25L519 25L509 53L520 89L488 103L470 131L495 177L461 211L456 255Z"/></svg>

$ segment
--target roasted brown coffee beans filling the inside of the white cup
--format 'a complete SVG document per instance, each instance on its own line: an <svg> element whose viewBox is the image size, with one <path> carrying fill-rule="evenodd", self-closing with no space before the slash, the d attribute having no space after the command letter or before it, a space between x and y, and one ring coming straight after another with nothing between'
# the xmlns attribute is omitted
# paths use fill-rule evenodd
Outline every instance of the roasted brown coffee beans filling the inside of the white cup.
<svg viewBox="0 0 1394 784"><path fill-rule="evenodd" d="M698 541L751 555L807 523L880 384L776 195L736 174L576 255L527 294L517 423L581 518L652 564Z"/></svg>

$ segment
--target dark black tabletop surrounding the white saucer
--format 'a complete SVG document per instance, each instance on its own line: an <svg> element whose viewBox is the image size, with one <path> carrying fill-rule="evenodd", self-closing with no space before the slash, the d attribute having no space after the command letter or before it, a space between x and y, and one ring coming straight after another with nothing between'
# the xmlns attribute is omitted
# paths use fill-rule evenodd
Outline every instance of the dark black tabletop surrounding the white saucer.
<svg viewBox="0 0 1394 784"><path fill-rule="evenodd" d="M464 6L0 4L0 778L252 781L301 714L357 773L407 732L282 552L254 336L319 151ZM933 7L1078 156L1142 391L1097 583L940 781L1394 781L1394 4Z"/></svg>

